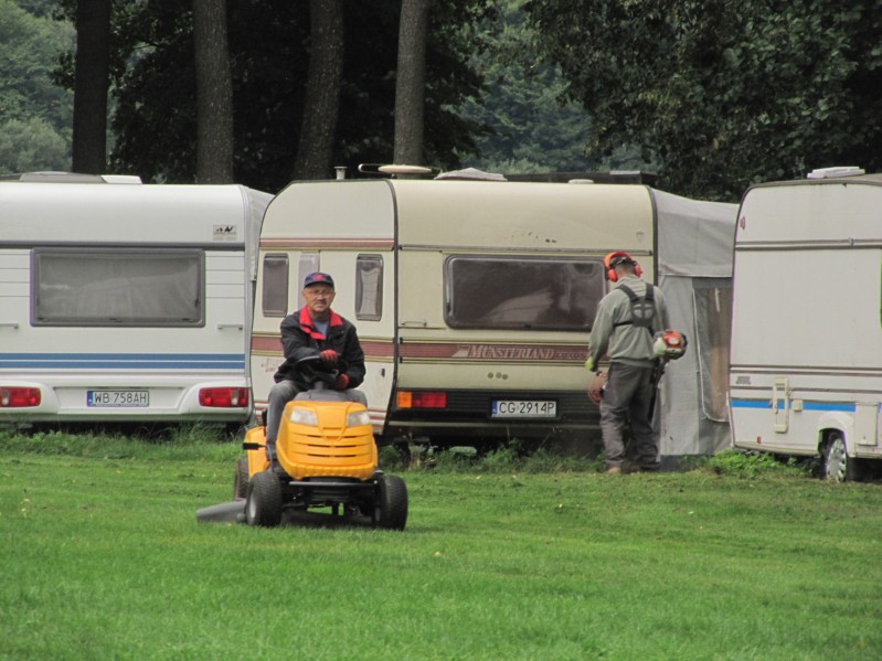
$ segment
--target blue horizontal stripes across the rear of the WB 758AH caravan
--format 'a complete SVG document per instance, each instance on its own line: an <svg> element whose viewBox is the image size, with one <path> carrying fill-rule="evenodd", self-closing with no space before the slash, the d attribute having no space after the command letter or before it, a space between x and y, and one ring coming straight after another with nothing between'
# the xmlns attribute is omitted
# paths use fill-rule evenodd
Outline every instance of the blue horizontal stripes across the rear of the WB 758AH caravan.
<svg viewBox="0 0 882 661"><path fill-rule="evenodd" d="M244 353L0 353L0 370L244 369Z"/></svg>

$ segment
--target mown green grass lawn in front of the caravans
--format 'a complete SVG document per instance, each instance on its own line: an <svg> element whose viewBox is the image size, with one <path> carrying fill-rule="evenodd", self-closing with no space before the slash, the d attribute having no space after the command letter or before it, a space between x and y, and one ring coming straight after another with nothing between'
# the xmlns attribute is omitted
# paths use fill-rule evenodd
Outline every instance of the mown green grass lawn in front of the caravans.
<svg viewBox="0 0 882 661"><path fill-rule="evenodd" d="M0 659L882 658L879 484L444 455L403 533L198 523L237 456L0 434Z"/></svg>

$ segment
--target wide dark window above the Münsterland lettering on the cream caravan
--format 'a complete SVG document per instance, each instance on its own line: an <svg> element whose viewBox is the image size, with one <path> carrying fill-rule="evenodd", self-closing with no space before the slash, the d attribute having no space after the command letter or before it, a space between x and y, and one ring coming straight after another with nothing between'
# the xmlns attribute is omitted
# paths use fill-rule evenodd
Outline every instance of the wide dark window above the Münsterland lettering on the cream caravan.
<svg viewBox="0 0 882 661"><path fill-rule="evenodd" d="M453 255L444 268L453 328L587 331L604 295L603 265L566 257Z"/></svg>

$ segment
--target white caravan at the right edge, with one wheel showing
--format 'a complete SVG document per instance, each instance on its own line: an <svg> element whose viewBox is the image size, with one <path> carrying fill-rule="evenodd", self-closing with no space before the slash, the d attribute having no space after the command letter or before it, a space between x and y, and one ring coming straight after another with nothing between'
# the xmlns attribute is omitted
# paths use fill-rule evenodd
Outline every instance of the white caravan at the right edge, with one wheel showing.
<svg viewBox="0 0 882 661"><path fill-rule="evenodd" d="M857 168L744 194L729 402L738 448L820 456L860 479L882 458L882 175Z"/></svg>

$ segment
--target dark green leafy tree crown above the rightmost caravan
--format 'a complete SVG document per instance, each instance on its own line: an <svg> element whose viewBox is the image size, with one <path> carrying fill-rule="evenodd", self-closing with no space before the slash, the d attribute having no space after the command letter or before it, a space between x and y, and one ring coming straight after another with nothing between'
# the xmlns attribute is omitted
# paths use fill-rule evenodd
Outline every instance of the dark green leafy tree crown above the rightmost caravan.
<svg viewBox="0 0 882 661"><path fill-rule="evenodd" d="M666 188L733 200L830 164L882 167L878 0L531 0L538 47L594 120Z"/></svg>

